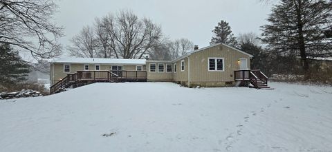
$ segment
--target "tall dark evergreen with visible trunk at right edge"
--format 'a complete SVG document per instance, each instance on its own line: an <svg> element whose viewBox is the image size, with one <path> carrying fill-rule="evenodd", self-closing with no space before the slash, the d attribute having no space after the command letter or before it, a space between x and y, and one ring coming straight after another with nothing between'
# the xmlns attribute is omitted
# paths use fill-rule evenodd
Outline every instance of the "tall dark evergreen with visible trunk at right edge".
<svg viewBox="0 0 332 152"><path fill-rule="evenodd" d="M308 58L332 56L331 10L326 0L281 0L261 27L262 41L276 54L300 57L308 78Z"/></svg>

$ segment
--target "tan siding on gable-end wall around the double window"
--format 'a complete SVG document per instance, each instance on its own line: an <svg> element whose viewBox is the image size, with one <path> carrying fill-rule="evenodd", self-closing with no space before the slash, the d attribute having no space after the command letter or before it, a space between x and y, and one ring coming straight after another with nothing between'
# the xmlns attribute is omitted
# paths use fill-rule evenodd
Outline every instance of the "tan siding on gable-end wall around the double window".
<svg viewBox="0 0 332 152"><path fill-rule="evenodd" d="M209 72L208 58L223 58L224 71ZM239 69L239 58L248 58L247 64L250 68L250 56L233 50L230 47L216 45L216 47L196 52L190 56L190 82L214 83L234 81L234 70Z"/></svg>

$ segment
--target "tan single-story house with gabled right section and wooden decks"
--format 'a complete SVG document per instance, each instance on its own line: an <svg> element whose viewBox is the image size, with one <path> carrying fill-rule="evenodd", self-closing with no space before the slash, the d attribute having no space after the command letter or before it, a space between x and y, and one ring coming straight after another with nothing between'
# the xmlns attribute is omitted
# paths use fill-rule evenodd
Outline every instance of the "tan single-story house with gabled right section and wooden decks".
<svg viewBox="0 0 332 152"><path fill-rule="evenodd" d="M259 70L250 70L250 58L252 55L222 43L197 48L173 61L60 58L51 62L51 93L60 87L109 81L162 81L187 87L252 83L254 87L268 88L268 78Z"/></svg>

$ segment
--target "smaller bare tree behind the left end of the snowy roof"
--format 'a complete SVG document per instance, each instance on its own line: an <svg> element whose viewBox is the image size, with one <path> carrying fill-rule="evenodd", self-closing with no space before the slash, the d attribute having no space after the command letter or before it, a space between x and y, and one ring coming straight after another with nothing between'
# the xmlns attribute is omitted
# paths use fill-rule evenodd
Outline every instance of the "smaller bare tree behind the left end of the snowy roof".
<svg viewBox="0 0 332 152"><path fill-rule="evenodd" d="M68 47L68 51L72 56L93 58L96 57L96 39L93 28L84 27L80 34L71 39L73 46Z"/></svg>

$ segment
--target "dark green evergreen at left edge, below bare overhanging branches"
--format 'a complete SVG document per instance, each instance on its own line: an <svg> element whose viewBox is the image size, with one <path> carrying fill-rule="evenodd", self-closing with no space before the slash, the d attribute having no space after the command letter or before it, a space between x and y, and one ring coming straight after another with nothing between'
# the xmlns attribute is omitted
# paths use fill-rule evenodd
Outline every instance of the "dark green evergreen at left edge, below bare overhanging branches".
<svg viewBox="0 0 332 152"><path fill-rule="evenodd" d="M0 43L0 85L15 85L26 80L30 65L8 43Z"/></svg>

